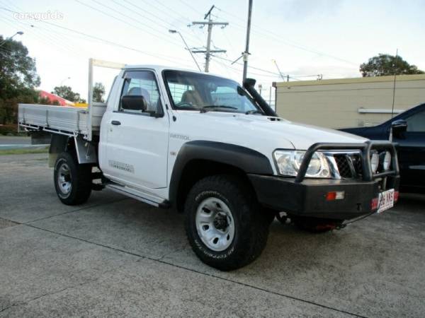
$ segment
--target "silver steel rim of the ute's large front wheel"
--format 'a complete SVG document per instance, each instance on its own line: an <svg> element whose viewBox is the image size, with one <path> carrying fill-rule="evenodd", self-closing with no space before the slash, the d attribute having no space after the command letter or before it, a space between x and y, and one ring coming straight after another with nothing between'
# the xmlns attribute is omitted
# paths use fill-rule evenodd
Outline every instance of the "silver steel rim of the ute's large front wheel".
<svg viewBox="0 0 425 318"><path fill-rule="evenodd" d="M196 230L209 249L227 249L234 239L234 219L227 204L217 198L203 200L196 211Z"/></svg>

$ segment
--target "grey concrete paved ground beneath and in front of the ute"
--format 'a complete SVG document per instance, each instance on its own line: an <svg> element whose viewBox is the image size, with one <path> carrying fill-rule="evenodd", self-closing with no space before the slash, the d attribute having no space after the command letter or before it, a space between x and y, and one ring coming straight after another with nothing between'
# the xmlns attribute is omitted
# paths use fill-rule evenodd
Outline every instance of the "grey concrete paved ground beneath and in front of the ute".
<svg viewBox="0 0 425 318"><path fill-rule="evenodd" d="M322 235L271 225L228 273L183 216L113 192L64 206L45 154L0 156L0 317L423 317L425 198Z"/></svg>

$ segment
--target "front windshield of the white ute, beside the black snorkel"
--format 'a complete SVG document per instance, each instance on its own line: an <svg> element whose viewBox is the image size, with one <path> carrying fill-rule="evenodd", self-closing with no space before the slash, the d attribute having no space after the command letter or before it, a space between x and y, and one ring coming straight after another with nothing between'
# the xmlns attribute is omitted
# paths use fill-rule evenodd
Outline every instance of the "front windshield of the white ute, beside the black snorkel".
<svg viewBox="0 0 425 318"><path fill-rule="evenodd" d="M208 74L164 71L176 110L263 113L237 82Z"/></svg>

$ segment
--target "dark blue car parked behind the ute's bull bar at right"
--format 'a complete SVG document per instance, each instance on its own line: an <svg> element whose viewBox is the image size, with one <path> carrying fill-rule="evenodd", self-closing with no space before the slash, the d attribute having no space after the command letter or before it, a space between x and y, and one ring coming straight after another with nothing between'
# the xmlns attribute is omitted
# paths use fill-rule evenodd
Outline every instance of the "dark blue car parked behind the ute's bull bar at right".
<svg viewBox="0 0 425 318"><path fill-rule="evenodd" d="M425 193L425 104L378 126L341 129L368 139L398 143L400 191Z"/></svg>

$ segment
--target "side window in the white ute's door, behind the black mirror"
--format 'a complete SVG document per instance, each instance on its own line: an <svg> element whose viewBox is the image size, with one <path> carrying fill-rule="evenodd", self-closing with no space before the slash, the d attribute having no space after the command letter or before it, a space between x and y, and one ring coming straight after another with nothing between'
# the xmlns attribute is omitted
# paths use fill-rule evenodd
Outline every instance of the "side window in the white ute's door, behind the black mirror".
<svg viewBox="0 0 425 318"><path fill-rule="evenodd" d="M161 107L157 80L152 71L128 71L124 78L120 112L156 112ZM134 98L130 98L130 102L123 102L123 97L128 96L134 96ZM146 105L137 99L140 96L143 96Z"/></svg>

